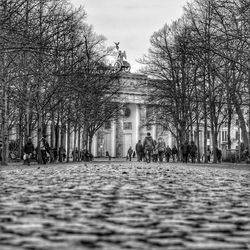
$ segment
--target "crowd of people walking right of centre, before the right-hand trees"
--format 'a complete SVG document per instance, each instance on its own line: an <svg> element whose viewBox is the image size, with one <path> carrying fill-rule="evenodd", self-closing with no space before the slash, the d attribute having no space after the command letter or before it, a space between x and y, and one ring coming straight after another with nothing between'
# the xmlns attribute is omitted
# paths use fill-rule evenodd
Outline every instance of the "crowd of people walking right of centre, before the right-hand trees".
<svg viewBox="0 0 250 250"><path fill-rule="evenodd" d="M179 152L180 151L180 152ZM130 147L127 152L127 160L131 161L132 155L136 154L137 161L145 162L163 162L164 159L166 162L176 162L178 160L183 163L192 162L195 163L198 160L198 148L194 141L190 143L185 141L178 151L177 147L174 145L172 148L169 145L166 145L162 137L159 137L158 140L154 140L150 133L147 133L147 136L143 140L139 140L135 145L135 150ZM212 151L208 146L205 154L202 156L204 160L207 157L207 161L211 161ZM217 154L218 162L221 162L222 151L219 148L216 148L215 153Z"/></svg>

